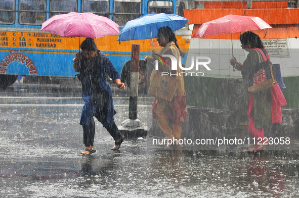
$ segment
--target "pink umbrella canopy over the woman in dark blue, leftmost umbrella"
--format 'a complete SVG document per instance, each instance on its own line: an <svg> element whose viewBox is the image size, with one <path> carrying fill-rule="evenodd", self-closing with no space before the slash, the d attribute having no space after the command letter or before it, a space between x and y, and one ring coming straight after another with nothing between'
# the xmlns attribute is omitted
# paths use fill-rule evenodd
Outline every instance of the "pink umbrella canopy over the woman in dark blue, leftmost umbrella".
<svg viewBox="0 0 299 198"><path fill-rule="evenodd" d="M107 17L93 13L76 13L55 15L42 23L41 31L61 36L80 36L99 38L119 34L118 25Z"/></svg>

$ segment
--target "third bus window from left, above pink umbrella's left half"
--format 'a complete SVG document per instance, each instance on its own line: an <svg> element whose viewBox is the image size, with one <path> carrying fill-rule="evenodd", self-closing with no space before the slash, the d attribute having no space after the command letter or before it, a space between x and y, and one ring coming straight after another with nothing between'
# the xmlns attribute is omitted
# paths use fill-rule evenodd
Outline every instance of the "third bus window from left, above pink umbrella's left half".
<svg viewBox="0 0 299 198"><path fill-rule="evenodd" d="M51 0L50 2L50 17L54 15L67 14L77 11L76 0Z"/></svg>

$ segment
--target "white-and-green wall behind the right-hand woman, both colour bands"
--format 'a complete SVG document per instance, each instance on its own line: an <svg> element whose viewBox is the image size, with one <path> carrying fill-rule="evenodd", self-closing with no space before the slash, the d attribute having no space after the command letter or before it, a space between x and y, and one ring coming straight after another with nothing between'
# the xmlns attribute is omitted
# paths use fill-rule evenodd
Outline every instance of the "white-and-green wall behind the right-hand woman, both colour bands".
<svg viewBox="0 0 299 198"><path fill-rule="evenodd" d="M287 106L299 107L299 38L288 40L289 57L271 58L273 64L280 64L281 74L286 89L283 91ZM242 50L239 40L233 40L233 53L237 61L243 63L247 52ZM185 86L187 103L189 106L230 109L234 110L234 101L239 97L242 89L241 74L233 71L229 64L232 58L231 40L219 39L191 39L188 57L206 56L211 59L206 70L203 66L195 70L195 66L188 72L202 72L203 77L186 76ZM186 67L191 66L191 59L187 57ZM231 79L231 80L230 80Z"/></svg>

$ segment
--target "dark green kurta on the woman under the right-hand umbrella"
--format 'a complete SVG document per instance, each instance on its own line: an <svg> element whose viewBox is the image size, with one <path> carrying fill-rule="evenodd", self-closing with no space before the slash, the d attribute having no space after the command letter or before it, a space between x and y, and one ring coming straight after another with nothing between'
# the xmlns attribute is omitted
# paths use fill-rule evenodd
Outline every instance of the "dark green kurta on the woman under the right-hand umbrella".
<svg viewBox="0 0 299 198"><path fill-rule="evenodd" d="M248 124L248 101L250 92L248 91L248 75L253 75L255 67L263 62L259 52L251 50L241 66L241 74L243 78L244 92L241 96L239 106L239 122L246 125ZM272 114L271 114L271 89L265 89L253 93L253 119L255 128L270 128L272 125Z"/></svg>

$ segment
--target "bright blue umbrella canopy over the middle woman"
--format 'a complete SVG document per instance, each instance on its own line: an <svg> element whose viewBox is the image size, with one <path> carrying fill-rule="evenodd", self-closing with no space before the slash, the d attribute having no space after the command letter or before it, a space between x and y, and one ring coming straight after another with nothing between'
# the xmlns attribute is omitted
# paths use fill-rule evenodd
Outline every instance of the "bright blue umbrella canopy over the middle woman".
<svg viewBox="0 0 299 198"><path fill-rule="evenodd" d="M189 20L173 14L147 14L138 19L128 21L121 30L117 40L139 40L156 38L158 29L168 26L176 31L185 26Z"/></svg>

